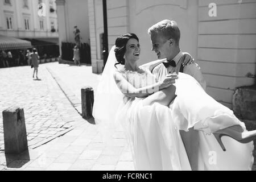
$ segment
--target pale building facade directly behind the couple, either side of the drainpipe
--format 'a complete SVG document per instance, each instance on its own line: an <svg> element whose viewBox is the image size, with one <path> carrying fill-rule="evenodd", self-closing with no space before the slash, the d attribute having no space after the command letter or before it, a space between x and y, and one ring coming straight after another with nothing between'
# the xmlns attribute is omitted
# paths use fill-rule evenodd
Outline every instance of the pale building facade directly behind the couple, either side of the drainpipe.
<svg viewBox="0 0 256 182"><path fill-rule="evenodd" d="M173 19L181 31L181 50L199 63L210 96L231 108L236 88L255 84L255 0L108 0L107 9L109 49L118 35L137 34L140 65L156 60L147 29L160 20ZM88 12L92 67L100 73L102 0L88 0Z"/></svg>

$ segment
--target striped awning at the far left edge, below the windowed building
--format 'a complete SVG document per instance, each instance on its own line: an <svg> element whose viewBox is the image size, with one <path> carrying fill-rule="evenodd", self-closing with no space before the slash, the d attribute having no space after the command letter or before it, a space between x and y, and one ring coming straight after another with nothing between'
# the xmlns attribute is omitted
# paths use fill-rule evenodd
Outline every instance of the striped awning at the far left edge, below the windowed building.
<svg viewBox="0 0 256 182"><path fill-rule="evenodd" d="M31 43L26 40L0 35L0 50L31 48Z"/></svg>

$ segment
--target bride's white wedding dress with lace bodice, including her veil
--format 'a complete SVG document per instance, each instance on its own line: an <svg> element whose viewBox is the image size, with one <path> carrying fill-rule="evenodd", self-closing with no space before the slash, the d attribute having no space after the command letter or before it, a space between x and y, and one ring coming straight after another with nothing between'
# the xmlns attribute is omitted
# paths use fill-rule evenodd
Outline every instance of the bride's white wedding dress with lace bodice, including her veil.
<svg viewBox="0 0 256 182"><path fill-rule="evenodd" d="M177 97L170 107L158 103L143 106L144 98L129 98L118 90L112 67L113 63L106 65L102 74L93 116L97 124L107 126L103 127L105 129L113 128L114 121L122 124L136 170L191 170L179 133L179 130L188 131L191 127L200 130L199 170L251 170L253 142L242 144L230 137L222 137L226 147L226 151L222 151L211 134L233 125L241 125L246 130L244 123L232 110L208 96L195 78L179 73L175 83ZM142 74L121 73L130 84L139 88L155 82L154 75L145 71ZM106 90L106 87L111 89ZM107 132L112 133L105 130Z"/></svg>

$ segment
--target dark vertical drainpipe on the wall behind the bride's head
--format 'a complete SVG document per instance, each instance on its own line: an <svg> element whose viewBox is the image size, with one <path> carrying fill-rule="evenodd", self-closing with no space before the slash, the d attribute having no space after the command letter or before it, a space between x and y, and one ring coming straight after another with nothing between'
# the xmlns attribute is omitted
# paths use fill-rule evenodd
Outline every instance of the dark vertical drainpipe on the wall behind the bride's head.
<svg viewBox="0 0 256 182"><path fill-rule="evenodd" d="M104 67L106 65L106 61L108 60L109 56L109 40L108 40L108 14L107 14L107 5L106 0L102 0L103 5L103 21L104 21L104 38L103 38L103 63Z"/></svg>

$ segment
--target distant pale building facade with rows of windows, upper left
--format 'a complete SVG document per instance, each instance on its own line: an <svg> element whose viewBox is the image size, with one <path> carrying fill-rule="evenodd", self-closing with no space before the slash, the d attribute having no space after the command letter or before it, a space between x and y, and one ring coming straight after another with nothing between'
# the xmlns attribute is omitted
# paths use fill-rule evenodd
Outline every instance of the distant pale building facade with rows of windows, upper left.
<svg viewBox="0 0 256 182"><path fill-rule="evenodd" d="M0 0L0 35L57 42L55 0Z"/></svg>

